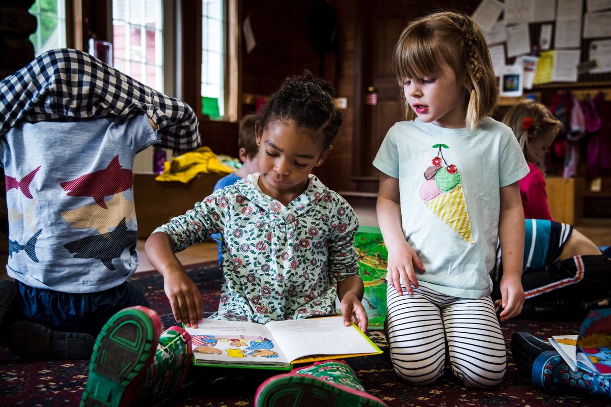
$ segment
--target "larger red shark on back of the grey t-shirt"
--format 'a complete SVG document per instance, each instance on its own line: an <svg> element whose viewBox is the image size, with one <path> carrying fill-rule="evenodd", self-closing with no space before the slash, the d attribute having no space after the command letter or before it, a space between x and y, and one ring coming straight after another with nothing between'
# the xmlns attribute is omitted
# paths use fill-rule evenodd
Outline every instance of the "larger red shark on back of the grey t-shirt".
<svg viewBox="0 0 611 407"><path fill-rule="evenodd" d="M108 209L104 196L131 189L132 184L131 170L121 167L119 156L115 156L103 170L85 174L73 181L60 182L64 190L70 191L68 196L91 196L104 209Z"/></svg>

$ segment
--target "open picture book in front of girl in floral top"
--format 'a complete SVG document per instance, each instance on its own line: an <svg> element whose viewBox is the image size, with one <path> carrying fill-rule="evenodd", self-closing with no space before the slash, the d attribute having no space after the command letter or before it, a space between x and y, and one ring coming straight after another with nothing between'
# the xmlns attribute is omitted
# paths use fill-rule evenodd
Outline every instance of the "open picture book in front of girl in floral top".
<svg viewBox="0 0 611 407"><path fill-rule="evenodd" d="M268 322L205 319L191 335L196 366L291 369L294 363L377 355L382 351L343 317Z"/></svg>

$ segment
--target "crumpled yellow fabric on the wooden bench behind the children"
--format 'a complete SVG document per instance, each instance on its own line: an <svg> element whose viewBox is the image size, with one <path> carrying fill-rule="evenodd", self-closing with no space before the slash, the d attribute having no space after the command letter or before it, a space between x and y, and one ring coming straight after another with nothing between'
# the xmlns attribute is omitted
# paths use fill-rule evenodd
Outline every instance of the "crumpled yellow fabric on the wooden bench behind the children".
<svg viewBox="0 0 611 407"><path fill-rule="evenodd" d="M229 174L233 172L232 168L221 164L210 147L201 147L174 157L169 162L164 162L163 167L163 173L155 178L157 181L180 181L185 184L199 173Z"/></svg>

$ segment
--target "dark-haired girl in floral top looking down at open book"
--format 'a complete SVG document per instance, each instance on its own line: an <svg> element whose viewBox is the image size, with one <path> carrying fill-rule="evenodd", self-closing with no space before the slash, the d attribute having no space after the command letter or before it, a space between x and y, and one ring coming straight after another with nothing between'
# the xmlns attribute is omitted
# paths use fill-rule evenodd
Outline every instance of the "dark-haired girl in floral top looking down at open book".
<svg viewBox="0 0 611 407"><path fill-rule="evenodd" d="M310 174L331 152L342 124L332 95L331 85L308 71L286 79L255 125L260 172L217 190L148 238L148 259L164 276L177 322L197 328L203 307L199 290L174 253L219 232L224 284L212 319L267 323L334 315L337 297L344 325L354 322L367 329L354 250L356 215ZM345 405L360 405L365 398L370 405L384 405L364 389L326 386L324 378L303 380L302 373L293 374L288 382L266 383L258 394L286 391L296 398L303 394L305 400L316 380L318 391L329 397L345 395Z"/></svg>

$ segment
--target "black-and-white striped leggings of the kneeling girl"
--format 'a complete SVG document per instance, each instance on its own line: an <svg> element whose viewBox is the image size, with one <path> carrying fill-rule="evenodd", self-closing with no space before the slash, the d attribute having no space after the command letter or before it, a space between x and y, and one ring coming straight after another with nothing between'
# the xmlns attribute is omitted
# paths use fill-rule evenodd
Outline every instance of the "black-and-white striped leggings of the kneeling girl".
<svg viewBox="0 0 611 407"><path fill-rule="evenodd" d="M390 359L406 383L426 386L452 372L472 389L490 389L505 375L505 340L490 297L470 299L420 286L398 295L388 284Z"/></svg>

